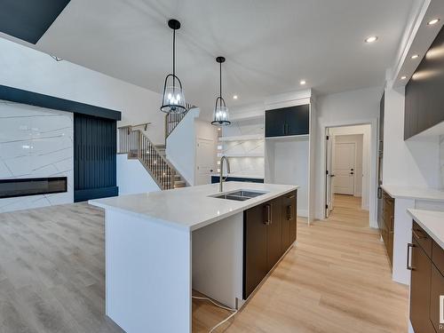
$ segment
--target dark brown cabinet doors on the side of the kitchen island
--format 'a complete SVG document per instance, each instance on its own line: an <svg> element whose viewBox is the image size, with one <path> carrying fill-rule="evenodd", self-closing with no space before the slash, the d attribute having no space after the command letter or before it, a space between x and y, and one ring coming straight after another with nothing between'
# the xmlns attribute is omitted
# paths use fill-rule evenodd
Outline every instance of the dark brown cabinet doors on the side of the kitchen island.
<svg viewBox="0 0 444 333"><path fill-rule="evenodd" d="M296 191L244 211L243 299L296 241L296 212Z"/></svg>

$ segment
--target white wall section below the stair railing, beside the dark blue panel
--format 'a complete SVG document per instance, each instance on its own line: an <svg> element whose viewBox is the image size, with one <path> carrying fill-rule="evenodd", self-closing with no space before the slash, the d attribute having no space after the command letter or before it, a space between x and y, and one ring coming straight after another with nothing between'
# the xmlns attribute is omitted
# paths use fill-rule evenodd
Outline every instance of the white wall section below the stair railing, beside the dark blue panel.
<svg viewBox="0 0 444 333"><path fill-rule="evenodd" d="M128 155L119 154L116 164L119 195L161 190L138 159L128 159Z"/></svg>

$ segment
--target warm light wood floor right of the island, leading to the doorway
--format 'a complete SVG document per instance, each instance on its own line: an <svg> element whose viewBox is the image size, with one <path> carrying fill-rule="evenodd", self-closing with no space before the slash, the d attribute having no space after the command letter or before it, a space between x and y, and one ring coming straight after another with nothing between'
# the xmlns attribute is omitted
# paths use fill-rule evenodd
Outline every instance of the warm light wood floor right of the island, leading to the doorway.
<svg viewBox="0 0 444 333"><path fill-rule="evenodd" d="M289 251L231 326L218 332L405 333L408 287L392 281L385 248L361 200L337 196L327 221L299 219ZM227 315L194 302L194 331ZM205 322L200 321L205 318ZM225 330L224 330L225 329Z"/></svg>

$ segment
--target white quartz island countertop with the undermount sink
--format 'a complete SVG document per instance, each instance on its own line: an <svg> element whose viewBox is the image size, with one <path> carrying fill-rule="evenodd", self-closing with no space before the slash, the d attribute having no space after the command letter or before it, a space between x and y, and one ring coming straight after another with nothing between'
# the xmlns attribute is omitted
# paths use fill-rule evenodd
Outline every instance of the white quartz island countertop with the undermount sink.
<svg viewBox="0 0 444 333"><path fill-rule="evenodd" d="M287 194L296 190L297 187L228 181L224 183L224 190L220 194L241 189L266 192L266 194L243 202L218 199L209 195L219 194L219 184L209 184L167 191L122 195L91 200L90 203L106 210L119 210L139 218L147 218L193 231Z"/></svg>

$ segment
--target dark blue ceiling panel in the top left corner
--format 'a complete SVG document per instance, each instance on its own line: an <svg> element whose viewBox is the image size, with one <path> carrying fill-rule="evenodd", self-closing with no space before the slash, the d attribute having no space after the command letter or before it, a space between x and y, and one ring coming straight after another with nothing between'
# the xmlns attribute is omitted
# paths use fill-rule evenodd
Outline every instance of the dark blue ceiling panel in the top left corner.
<svg viewBox="0 0 444 333"><path fill-rule="evenodd" d="M36 44L70 0L1 0L0 31Z"/></svg>

